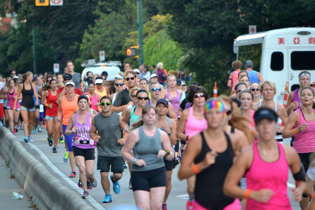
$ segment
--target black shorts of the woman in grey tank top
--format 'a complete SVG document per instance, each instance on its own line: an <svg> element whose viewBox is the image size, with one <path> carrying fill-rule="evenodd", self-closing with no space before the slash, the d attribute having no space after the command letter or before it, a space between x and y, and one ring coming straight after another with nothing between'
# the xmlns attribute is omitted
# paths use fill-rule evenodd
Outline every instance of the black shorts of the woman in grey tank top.
<svg viewBox="0 0 315 210"><path fill-rule="evenodd" d="M132 171L132 191L144 190L150 192L153 187L166 186L166 171L165 167L152 169L149 171Z"/></svg>

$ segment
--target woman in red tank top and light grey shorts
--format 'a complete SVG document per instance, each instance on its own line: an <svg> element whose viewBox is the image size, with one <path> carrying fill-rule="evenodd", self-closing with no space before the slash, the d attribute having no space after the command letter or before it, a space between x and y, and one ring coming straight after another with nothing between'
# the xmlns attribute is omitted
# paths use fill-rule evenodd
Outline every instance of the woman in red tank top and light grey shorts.
<svg viewBox="0 0 315 210"><path fill-rule="evenodd" d="M49 81L50 88L45 90L43 97L41 99L41 104L46 106L46 123L47 123L47 134L48 134L48 144L49 146L53 145L54 137L54 147L53 153L57 152L57 144L59 139L59 127L60 122L58 122L58 98L57 98L57 81L51 79ZM47 100L47 101L46 101ZM46 101L46 102L45 102Z"/></svg>

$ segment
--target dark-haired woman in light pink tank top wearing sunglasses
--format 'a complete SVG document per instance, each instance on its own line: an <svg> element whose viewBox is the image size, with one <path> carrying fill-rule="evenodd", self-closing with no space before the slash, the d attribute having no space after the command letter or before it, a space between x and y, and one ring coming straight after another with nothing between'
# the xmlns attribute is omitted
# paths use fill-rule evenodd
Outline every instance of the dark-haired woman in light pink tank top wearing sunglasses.
<svg viewBox="0 0 315 210"><path fill-rule="evenodd" d="M188 144L191 137L208 128L207 120L204 118L204 104L205 100L208 99L208 93L205 88L203 86L190 86L186 91L186 99L187 102L192 103L192 107L183 111L176 129L176 137L185 139L180 140L182 145ZM184 150L181 150L181 157L183 153ZM187 178L187 193L189 198L186 203L186 209L191 209L190 207L192 207L195 197L195 182L196 176L189 176Z"/></svg>

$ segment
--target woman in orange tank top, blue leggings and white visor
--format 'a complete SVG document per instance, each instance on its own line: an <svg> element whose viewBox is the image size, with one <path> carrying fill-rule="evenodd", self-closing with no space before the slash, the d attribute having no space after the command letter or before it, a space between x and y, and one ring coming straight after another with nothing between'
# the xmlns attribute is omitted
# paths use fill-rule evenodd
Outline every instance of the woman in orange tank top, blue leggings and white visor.
<svg viewBox="0 0 315 210"><path fill-rule="evenodd" d="M61 122L61 116L62 117L62 130L63 130L63 135L66 139L66 153L63 158L64 162L68 162L70 160L70 166L71 166L71 173L70 173L70 178L76 177L76 171L75 171L75 160L73 156L73 150L72 150L72 139L73 139L73 134L71 135L66 135L65 131L67 128L67 125L69 123L69 119L72 116L74 110L77 109L77 101L79 95L75 94L75 85L72 81L69 81L66 83L66 95L63 97L60 97L58 99L58 121ZM86 96L87 97L87 96Z"/></svg>

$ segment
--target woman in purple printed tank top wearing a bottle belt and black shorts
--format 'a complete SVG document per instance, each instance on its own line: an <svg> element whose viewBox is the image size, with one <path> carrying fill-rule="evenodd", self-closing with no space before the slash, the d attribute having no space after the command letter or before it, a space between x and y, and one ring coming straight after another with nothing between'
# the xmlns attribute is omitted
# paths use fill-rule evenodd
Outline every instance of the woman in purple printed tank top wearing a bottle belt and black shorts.
<svg viewBox="0 0 315 210"><path fill-rule="evenodd" d="M92 119L95 115L88 112L89 105L89 96L87 94L78 96L77 106L79 107L79 111L77 114L71 115L65 130L66 135L73 136L71 146L84 190L83 199L89 198L86 177L89 177L93 187L97 186L97 181L94 177L95 144L93 140L91 141L90 136Z"/></svg>

